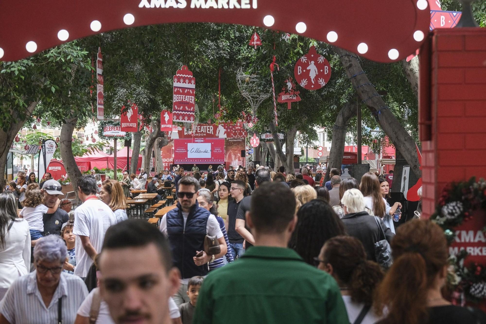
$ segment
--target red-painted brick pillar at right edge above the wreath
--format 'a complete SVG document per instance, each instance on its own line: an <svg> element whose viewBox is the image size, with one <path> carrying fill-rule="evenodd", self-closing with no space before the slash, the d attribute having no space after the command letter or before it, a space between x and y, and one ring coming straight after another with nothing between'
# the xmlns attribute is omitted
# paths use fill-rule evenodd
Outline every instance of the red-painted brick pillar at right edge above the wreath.
<svg viewBox="0 0 486 324"><path fill-rule="evenodd" d="M435 29L428 44L420 56L424 218L446 183L486 177L486 28Z"/></svg>

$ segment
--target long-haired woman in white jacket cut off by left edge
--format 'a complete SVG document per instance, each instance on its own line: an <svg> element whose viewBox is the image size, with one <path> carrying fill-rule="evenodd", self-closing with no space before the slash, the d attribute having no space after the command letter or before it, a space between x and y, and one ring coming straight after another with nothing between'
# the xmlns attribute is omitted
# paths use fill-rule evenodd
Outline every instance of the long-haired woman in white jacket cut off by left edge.
<svg viewBox="0 0 486 324"><path fill-rule="evenodd" d="M12 194L0 193L0 300L19 276L29 273L31 239L27 221L17 218Z"/></svg>

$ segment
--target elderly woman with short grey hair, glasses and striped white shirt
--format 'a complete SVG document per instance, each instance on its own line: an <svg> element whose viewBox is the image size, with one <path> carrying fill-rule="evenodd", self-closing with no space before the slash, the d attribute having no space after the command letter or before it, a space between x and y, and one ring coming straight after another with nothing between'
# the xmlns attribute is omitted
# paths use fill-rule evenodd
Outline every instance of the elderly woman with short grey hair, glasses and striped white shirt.
<svg viewBox="0 0 486 324"><path fill-rule="evenodd" d="M80 277L62 272L67 253L58 235L37 242L35 271L7 290L0 303L0 324L74 323L87 288Z"/></svg>

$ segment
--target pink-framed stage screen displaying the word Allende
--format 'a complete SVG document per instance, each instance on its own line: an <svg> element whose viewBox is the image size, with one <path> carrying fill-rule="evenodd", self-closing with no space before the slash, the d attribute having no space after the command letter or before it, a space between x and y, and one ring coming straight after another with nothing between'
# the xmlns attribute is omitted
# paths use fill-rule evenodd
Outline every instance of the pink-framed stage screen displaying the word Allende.
<svg viewBox="0 0 486 324"><path fill-rule="evenodd" d="M224 163L224 138L174 139L174 163Z"/></svg>

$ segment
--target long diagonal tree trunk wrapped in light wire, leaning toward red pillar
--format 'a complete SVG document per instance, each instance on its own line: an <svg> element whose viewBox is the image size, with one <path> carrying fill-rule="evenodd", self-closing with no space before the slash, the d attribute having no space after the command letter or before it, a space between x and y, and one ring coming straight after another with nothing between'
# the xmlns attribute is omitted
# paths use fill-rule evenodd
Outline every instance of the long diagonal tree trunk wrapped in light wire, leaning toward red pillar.
<svg viewBox="0 0 486 324"><path fill-rule="evenodd" d="M382 130L393 144L395 144L395 147L403 155L410 168L414 170L415 174L420 176L421 171L419 169L417 150L415 148L416 143L412 136L408 134L398 119L388 109L382 97L378 95L375 86L370 83L356 55L340 48L334 48L334 50L340 56L347 76L354 88L357 89L356 91L361 100L375 115Z"/></svg>

